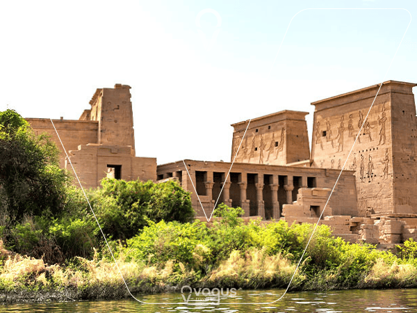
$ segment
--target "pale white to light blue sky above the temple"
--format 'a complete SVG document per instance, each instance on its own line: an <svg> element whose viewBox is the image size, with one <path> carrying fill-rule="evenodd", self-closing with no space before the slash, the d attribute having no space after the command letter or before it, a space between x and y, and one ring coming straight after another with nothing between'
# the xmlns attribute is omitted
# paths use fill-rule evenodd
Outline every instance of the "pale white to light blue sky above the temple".
<svg viewBox="0 0 417 313"><path fill-rule="evenodd" d="M417 83L416 23L416 1L1 1L0 111L76 120L127 84L138 157L229 161L233 123L306 111L311 138L311 102Z"/></svg>

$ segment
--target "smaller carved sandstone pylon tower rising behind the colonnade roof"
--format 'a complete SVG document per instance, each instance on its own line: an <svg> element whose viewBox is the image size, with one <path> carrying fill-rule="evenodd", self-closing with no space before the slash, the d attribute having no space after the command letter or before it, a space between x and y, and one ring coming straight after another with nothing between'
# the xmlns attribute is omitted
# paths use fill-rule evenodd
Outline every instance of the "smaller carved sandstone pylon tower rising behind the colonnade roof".
<svg viewBox="0 0 417 313"><path fill-rule="evenodd" d="M236 152L236 162L286 165L308 160L309 138L304 116L306 112L281 111L251 120L238 122L234 127L231 161ZM240 145L240 150L238 147Z"/></svg>

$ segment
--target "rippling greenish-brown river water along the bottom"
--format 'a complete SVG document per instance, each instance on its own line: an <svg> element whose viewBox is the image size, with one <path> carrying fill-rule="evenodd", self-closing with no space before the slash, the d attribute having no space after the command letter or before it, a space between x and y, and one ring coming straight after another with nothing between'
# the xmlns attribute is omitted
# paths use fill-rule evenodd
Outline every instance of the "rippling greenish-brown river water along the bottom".
<svg viewBox="0 0 417 313"><path fill-rule="evenodd" d="M283 293L281 289L238 290L236 296L220 296L218 303L217 296L186 292L188 304L181 294L139 295L147 303L177 304L141 304L133 299L20 303L0 305L0 312L417 312L417 289L291 292L278 302L259 304L277 300Z"/></svg>

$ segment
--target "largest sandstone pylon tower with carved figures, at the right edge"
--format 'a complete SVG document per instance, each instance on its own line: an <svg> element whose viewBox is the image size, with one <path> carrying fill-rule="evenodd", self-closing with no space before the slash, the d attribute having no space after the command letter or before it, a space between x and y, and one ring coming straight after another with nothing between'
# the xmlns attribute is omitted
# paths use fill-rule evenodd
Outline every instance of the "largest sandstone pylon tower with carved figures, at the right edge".
<svg viewBox="0 0 417 313"><path fill-rule="evenodd" d="M417 175L413 86L384 83L368 118L377 85L312 103L316 106L311 145L315 167L340 170L364 122L345 166L355 170L359 216L412 211L414 200L409 195L417 192L411 177Z"/></svg>

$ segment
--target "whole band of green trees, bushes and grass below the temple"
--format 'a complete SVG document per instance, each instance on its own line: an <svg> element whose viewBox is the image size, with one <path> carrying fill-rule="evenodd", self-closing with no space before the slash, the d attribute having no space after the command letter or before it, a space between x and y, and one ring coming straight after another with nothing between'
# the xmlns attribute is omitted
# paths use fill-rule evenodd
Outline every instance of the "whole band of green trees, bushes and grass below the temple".
<svg viewBox="0 0 417 313"><path fill-rule="evenodd" d="M104 179L88 198L58 167L48 136L15 111L0 112L0 293L95 299L193 287L286 287L313 225L243 223L220 204L213 223L194 221L190 193L174 181ZM417 286L417 243L398 255L334 238L321 225L291 290Z"/></svg>

